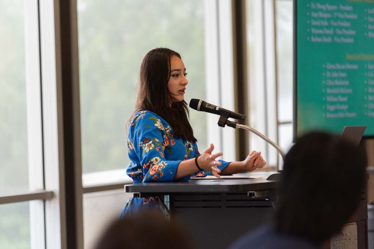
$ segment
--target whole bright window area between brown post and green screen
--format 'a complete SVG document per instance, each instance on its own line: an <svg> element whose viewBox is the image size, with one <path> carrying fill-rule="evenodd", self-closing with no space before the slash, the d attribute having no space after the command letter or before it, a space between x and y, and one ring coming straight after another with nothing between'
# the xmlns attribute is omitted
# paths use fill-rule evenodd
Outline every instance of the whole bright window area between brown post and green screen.
<svg viewBox="0 0 374 249"><path fill-rule="evenodd" d="M249 123L286 153L292 142L292 1L246 1ZM250 134L268 167L282 167L275 148Z"/></svg>

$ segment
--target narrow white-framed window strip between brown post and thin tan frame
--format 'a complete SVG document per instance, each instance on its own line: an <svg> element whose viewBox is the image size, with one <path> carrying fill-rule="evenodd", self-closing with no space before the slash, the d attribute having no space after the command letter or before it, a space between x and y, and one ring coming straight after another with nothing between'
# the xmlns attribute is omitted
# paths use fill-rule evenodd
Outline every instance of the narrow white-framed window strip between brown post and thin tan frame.
<svg viewBox="0 0 374 249"><path fill-rule="evenodd" d="M278 143L273 1L246 1L249 126ZM261 151L267 167L277 165L277 151L249 134L249 151Z"/></svg>

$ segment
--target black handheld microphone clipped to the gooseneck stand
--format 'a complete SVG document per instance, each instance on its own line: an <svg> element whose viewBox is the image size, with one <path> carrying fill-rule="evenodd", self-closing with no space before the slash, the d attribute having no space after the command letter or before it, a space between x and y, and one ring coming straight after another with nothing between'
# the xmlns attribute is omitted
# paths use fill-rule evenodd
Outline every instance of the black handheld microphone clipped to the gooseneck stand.
<svg viewBox="0 0 374 249"><path fill-rule="evenodd" d="M213 113L217 115L227 115L227 117L230 117L232 119L239 119L239 120L245 120L247 117L246 115L236 113L234 111L226 110L224 108L218 107L216 105L210 104L208 102L205 102L203 100L198 100L196 98L191 99L190 101L190 107L192 109L195 109L196 111L205 111L207 113Z"/></svg>

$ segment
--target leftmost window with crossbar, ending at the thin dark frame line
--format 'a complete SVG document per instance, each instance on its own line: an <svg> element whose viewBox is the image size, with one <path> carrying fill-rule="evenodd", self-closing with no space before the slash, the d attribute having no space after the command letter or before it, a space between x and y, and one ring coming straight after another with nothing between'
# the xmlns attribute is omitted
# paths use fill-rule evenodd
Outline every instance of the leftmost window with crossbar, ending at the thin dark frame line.
<svg viewBox="0 0 374 249"><path fill-rule="evenodd" d="M0 247L44 248L37 1L0 1Z"/></svg>

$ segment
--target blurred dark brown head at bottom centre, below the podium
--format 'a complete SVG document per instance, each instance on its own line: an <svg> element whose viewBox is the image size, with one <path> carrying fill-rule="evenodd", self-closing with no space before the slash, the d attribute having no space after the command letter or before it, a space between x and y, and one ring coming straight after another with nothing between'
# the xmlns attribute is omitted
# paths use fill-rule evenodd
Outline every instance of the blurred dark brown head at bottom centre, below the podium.
<svg viewBox="0 0 374 249"><path fill-rule="evenodd" d="M94 249L191 249L186 231L160 212L140 212L115 220Z"/></svg>

